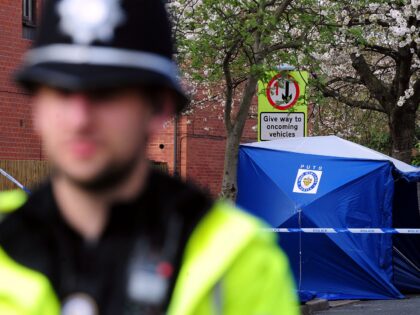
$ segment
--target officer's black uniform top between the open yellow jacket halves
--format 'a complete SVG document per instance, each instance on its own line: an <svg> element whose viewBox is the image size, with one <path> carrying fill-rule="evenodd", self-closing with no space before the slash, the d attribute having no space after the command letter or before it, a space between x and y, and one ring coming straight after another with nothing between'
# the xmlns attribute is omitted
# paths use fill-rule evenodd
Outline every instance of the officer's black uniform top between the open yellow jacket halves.
<svg viewBox="0 0 420 315"><path fill-rule="evenodd" d="M62 302L83 293L96 301L100 314L158 314L168 305L185 244L211 204L196 188L153 171L138 198L114 205L101 237L87 242L63 220L46 184L0 224L0 246L46 275ZM140 269L151 277L142 278ZM157 307L147 296L139 302L147 281L162 278L159 272L167 277L164 299ZM129 289L133 273L140 278ZM152 287L159 293L159 285ZM133 300L130 290L140 298Z"/></svg>

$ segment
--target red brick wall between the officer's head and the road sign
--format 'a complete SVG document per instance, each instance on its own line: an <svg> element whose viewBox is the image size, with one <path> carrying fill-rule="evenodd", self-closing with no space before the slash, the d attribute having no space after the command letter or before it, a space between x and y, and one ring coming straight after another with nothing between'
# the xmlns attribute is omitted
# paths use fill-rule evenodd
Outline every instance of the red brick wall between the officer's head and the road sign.
<svg viewBox="0 0 420 315"><path fill-rule="evenodd" d="M220 192L223 177L226 132L222 115L220 104L209 103L195 108L190 115L182 116L178 127L178 173L214 196ZM247 121L242 142L257 140L255 125L255 119ZM173 130L171 122L149 146L150 158L169 163L171 173L174 163ZM159 149L159 144L164 144L164 149Z"/></svg>

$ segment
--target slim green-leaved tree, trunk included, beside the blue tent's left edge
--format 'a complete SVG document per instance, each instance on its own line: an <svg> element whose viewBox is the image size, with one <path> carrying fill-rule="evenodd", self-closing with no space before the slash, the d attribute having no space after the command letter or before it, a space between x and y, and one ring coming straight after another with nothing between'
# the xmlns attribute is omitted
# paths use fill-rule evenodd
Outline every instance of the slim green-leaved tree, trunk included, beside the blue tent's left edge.
<svg viewBox="0 0 420 315"><path fill-rule="evenodd" d="M313 0L171 1L178 57L190 83L222 90L226 153L221 195L236 197L239 143L257 82L288 62L314 29Z"/></svg>

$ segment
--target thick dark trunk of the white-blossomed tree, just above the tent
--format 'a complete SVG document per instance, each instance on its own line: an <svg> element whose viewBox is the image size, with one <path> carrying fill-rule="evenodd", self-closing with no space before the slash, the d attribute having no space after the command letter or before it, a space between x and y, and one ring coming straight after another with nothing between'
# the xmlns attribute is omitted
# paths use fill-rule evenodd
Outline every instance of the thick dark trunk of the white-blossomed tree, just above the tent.
<svg viewBox="0 0 420 315"><path fill-rule="evenodd" d="M398 160L411 163L411 150L414 146L416 112L408 104L396 107L389 118L389 129L392 140L392 156Z"/></svg>

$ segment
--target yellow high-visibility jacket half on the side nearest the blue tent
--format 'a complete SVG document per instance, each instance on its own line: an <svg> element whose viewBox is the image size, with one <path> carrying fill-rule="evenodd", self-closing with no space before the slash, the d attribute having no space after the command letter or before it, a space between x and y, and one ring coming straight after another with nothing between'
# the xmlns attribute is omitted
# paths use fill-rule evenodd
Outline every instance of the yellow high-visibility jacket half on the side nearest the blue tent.
<svg viewBox="0 0 420 315"><path fill-rule="evenodd" d="M191 235L168 314L299 314L287 258L262 227L216 203Z"/></svg>

